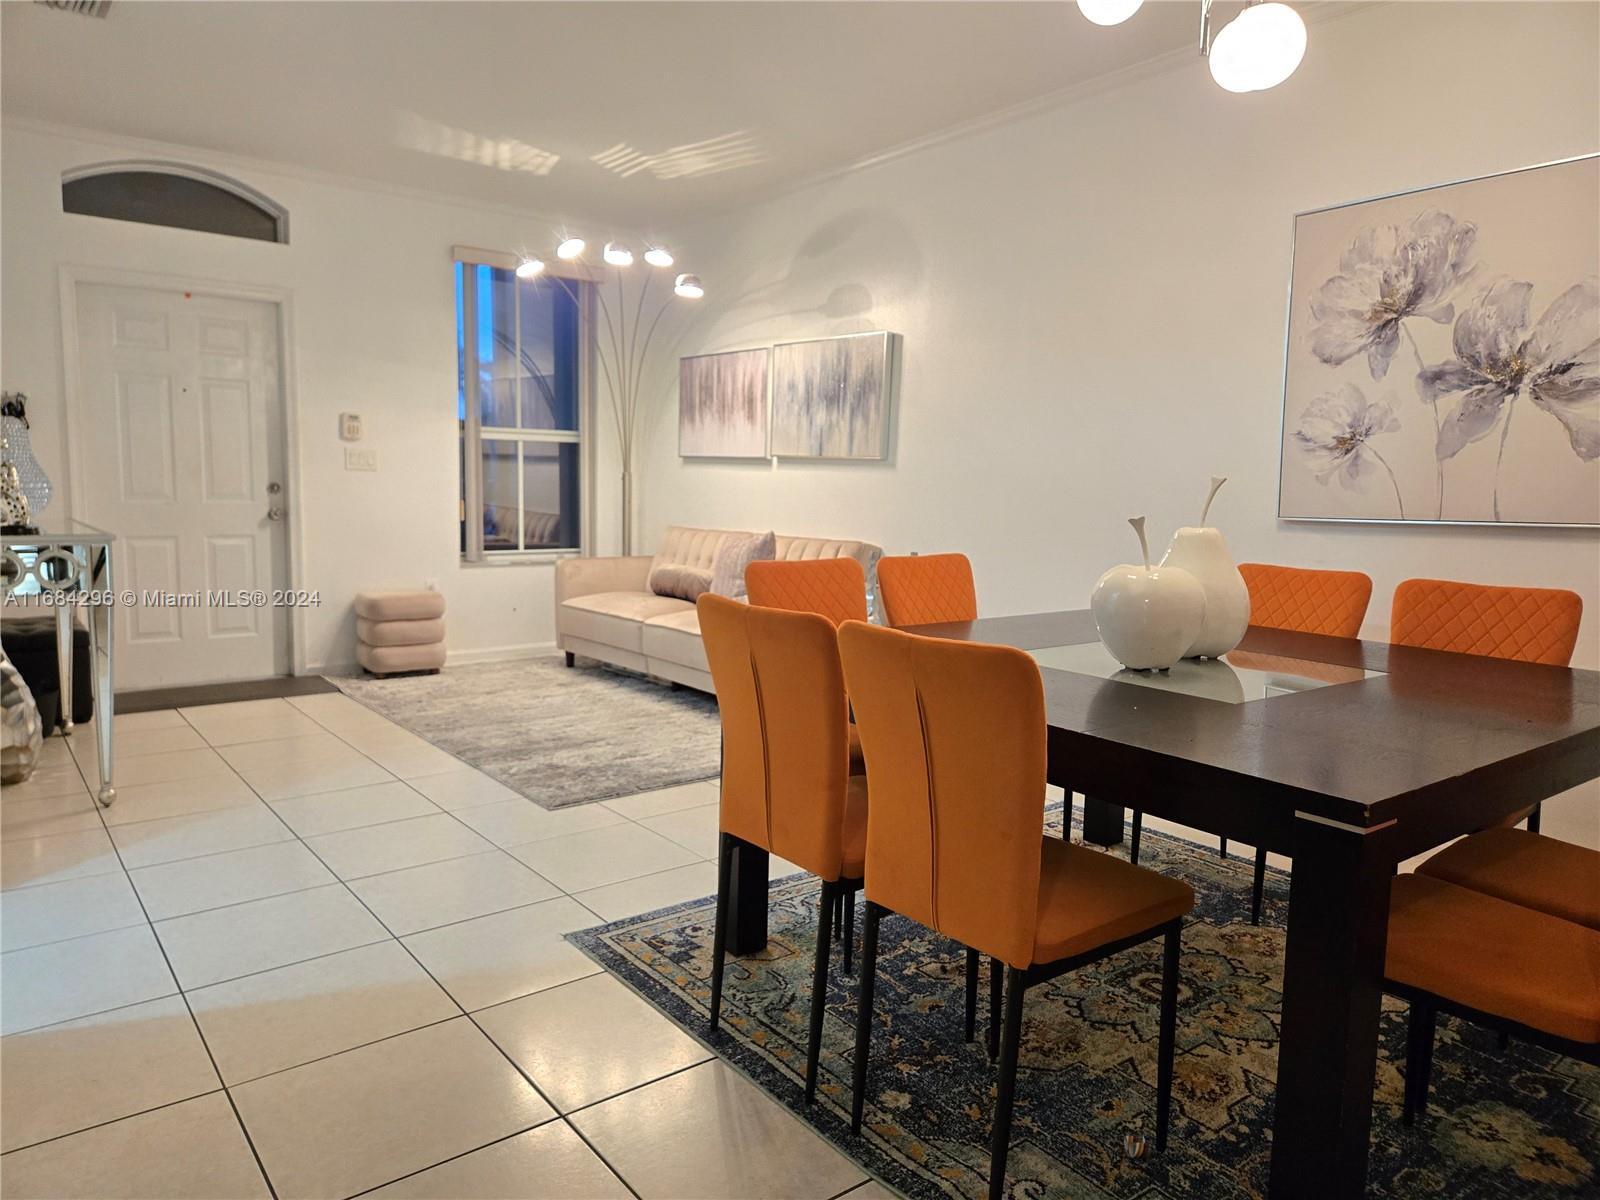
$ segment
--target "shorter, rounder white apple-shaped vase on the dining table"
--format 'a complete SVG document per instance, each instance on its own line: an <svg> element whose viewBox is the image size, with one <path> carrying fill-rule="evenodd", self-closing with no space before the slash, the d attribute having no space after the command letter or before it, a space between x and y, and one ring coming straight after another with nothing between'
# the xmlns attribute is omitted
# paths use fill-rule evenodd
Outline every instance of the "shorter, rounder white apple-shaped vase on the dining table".
<svg viewBox="0 0 1600 1200"><path fill-rule="evenodd" d="M1090 611L1106 650L1130 670L1165 670L1184 658L1205 621L1205 589L1178 566L1150 566L1144 517L1128 525L1139 536L1142 566L1112 566L1094 584Z"/></svg>

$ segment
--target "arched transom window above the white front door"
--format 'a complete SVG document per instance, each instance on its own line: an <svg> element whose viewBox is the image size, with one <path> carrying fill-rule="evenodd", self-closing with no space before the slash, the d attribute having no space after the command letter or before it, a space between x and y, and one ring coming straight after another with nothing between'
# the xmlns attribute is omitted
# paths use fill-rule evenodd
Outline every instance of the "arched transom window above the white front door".
<svg viewBox="0 0 1600 1200"><path fill-rule="evenodd" d="M288 214L227 176L162 163L107 163L61 179L61 210L202 234L288 242Z"/></svg>

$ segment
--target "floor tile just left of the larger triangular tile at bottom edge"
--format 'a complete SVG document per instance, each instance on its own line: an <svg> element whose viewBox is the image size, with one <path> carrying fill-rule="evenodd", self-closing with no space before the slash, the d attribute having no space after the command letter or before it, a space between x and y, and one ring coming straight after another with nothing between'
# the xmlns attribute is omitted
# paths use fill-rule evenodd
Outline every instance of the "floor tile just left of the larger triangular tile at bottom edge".
<svg viewBox="0 0 1600 1200"><path fill-rule="evenodd" d="M352 1195L550 1118L458 1018L234 1088L274 1187Z"/></svg>

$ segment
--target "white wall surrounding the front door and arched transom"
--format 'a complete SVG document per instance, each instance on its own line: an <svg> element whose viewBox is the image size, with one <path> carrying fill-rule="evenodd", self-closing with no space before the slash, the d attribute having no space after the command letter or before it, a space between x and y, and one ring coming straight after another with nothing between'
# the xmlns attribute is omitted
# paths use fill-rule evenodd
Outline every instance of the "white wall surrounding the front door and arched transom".
<svg viewBox="0 0 1600 1200"><path fill-rule="evenodd" d="M8 123L0 192L3 382L29 395L34 445L66 504L61 266L158 272L291 293L293 386L302 488L301 586L322 594L304 622L310 670L354 661L355 592L437 579L454 658L554 642L552 576L541 565L462 566L458 555L453 245L514 251L547 221L184 150ZM131 157L181 158L230 174L290 210L290 245L70 216L61 173ZM346 472L338 414L365 416L374 474ZM600 426L600 446L613 445ZM610 461L610 456L603 456ZM598 472L597 530L611 550L616 470ZM58 512L56 502L51 510ZM136 680L126 680L138 686Z"/></svg>

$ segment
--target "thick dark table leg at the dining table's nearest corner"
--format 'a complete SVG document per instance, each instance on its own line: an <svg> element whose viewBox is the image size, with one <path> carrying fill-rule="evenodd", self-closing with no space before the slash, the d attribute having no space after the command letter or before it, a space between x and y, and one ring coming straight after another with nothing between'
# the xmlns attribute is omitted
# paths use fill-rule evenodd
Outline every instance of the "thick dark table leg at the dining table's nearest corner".
<svg viewBox="0 0 1600 1200"><path fill-rule="evenodd" d="M1270 1197L1366 1189L1389 938L1389 830L1296 816Z"/></svg>

